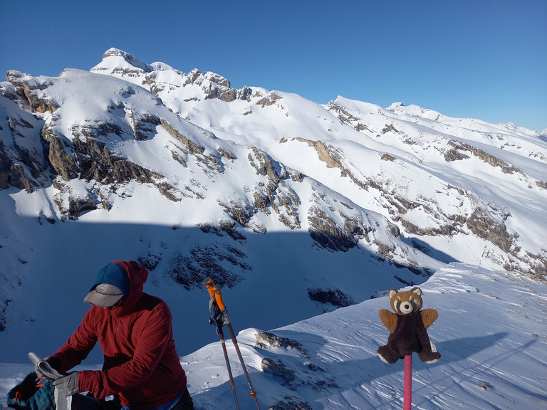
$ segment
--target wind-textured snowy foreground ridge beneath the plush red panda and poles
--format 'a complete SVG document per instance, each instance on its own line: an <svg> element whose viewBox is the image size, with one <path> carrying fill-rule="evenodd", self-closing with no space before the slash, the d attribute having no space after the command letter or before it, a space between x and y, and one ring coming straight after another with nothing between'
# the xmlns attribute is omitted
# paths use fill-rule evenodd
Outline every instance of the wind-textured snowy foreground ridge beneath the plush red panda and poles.
<svg viewBox="0 0 547 410"><path fill-rule="evenodd" d="M544 284L454 263L437 271L421 288L424 308L439 312L428 332L442 357L436 364L424 364L413 356L414 409L546 408ZM231 296L224 291L227 305ZM401 409L403 362L385 364L376 355L377 347L387 340L377 315L382 308L389 308L387 297L270 331L288 347L264 340L257 347L256 335L263 330L241 330L237 315L229 310L261 408L292 402L277 408ZM235 408L212 327L209 334L209 345L181 358L189 390L197 409ZM227 345L241 409L254 409L235 349L231 341ZM276 362L284 372L263 370L264 359ZM0 364L0 401L31 369L28 364Z"/></svg>

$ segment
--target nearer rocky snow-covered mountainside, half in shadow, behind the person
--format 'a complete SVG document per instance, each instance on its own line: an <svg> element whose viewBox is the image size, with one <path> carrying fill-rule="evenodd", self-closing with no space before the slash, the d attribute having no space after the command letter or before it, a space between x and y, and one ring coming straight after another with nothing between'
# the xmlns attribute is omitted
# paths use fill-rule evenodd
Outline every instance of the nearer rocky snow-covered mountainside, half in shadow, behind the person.
<svg viewBox="0 0 547 410"><path fill-rule="evenodd" d="M31 137L64 148L39 162L41 146L32 146L26 155L35 160L21 161L33 168L28 174L41 171L28 177L31 189L9 186L0 195L0 250L6 258L0 268L6 284L0 341L10 346L0 352L1 361L25 357L33 335L48 332L52 316L66 329L42 348L52 351L64 342L85 311L81 295L88 281L108 261L146 263L147 291L187 317L175 325L182 353L203 345L207 315L193 313L207 302L201 282L209 275L249 302L254 289L268 288L264 306L278 314L264 306L239 310L249 325L260 320L277 327L334 308L311 300L309 290L337 290L358 302L401 282L422 282L442 266L398 238L385 216L254 146L192 125L125 80L65 70L58 78L12 74L3 87L13 98L3 99L9 117L24 104L17 100L19 87L30 88L39 104L56 107L34 112L32 128L22 120L3 127L12 131L1 134L6 147L14 147L10 154L16 157ZM55 169L48 169L53 162ZM53 171L65 177L48 180ZM332 233L322 233L323 226ZM63 295L65 283L74 293ZM41 293L44 288L50 294ZM49 303L52 298L75 310ZM301 308L294 310L293 303ZM195 331L187 335L186 327Z"/></svg>

